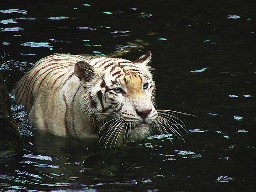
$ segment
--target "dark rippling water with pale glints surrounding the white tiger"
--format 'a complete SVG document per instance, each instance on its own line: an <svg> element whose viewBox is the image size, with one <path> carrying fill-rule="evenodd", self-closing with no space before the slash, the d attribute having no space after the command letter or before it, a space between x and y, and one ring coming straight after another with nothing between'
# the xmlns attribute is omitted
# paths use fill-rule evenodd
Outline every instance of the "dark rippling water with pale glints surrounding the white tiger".
<svg viewBox="0 0 256 192"><path fill-rule="evenodd" d="M157 135L130 148L40 136L13 113L24 154L0 163L1 191L254 191L256 12L254 1L6 1L0 69L12 87L53 53L106 55L141 38L159 109L179 115L183 140ZM154 35L147 35L148 33Z"/></svg>

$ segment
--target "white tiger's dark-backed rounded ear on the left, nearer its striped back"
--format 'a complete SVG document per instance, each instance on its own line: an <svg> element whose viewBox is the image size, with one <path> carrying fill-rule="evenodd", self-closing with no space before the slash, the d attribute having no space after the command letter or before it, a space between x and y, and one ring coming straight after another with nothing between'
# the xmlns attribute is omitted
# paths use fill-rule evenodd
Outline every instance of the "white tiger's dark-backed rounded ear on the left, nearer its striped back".
<svg viewBox="0 0 256 192"><path fill-rule="evenodd" d="M80 79L82 86L91 81L95 75L93 67L89 63L83 61L76 63L74 73Z"/></svg>

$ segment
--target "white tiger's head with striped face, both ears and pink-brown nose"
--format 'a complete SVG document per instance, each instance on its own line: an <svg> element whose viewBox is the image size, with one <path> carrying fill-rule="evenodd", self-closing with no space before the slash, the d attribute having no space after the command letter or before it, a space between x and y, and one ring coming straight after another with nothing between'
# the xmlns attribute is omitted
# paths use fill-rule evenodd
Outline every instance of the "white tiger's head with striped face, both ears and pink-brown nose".
<svg viewBox="0 0 256 192"><path fill-rule="evenodd" d="M154 106L150 60L148 52L134 62L104 57L76 63L75 75L86 90L82 110L102 138L145 137L153 125L167 133L168 119L161 121Z"/></svg>

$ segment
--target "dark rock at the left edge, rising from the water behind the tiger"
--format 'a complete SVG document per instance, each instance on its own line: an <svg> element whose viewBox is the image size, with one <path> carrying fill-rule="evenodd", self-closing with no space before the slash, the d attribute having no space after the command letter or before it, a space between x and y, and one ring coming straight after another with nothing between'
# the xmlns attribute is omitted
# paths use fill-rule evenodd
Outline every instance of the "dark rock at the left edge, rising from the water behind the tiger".
<svg viewBox="0 0 256 192"><path fill-rule="evenodd" d="M11 111L6 84L0 73L0 157L14 155L23 150L24 143Z"/></svg>

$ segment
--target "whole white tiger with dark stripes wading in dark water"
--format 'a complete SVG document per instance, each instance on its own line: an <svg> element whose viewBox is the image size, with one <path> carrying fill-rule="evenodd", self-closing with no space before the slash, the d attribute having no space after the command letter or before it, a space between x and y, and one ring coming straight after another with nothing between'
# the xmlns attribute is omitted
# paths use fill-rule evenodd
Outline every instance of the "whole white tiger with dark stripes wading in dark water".
<svg viewBox="0 0 256 192"><path fill-rule="evenodd" d="M156 110L151 52L134 62L111 57L54 54L42 58L14 88L35 127L57 136L99 138L116 145L144 138L152 127L179 135L182 122Z"/></svg>

